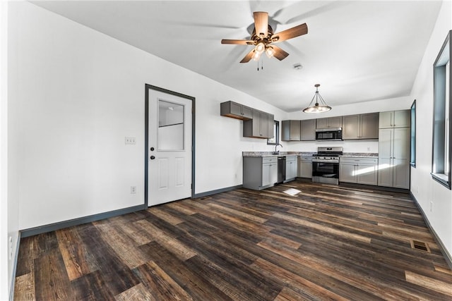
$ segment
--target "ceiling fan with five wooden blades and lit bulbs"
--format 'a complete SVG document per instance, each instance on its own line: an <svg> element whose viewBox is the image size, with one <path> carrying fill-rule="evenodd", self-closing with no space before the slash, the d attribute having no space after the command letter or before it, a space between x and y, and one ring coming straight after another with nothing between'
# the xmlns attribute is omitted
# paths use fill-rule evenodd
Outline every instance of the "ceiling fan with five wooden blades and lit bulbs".
<svg viewBox="0 0 452 301"><path fill-rule="evenodd" d="M258 61L263 52L265 52L269 58L275 56L276 59L282 61L289 54L274 44L308 33L308 26L306 23L289 28L288 30L283 30L282 32L273 33L273 28L268 24L268 13L255 11L253 14L254 30L251 33L251 39L221 40L221 44L254 45L254 49L249 51L240 63L248 63L251 59Z"/></svg>

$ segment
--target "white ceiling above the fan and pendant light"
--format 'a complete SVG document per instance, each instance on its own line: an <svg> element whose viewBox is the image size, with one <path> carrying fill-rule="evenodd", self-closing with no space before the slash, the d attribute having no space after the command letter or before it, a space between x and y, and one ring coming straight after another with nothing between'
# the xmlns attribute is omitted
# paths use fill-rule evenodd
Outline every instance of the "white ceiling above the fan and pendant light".
<svg viewBox="0 0 452 301"><path fill-rule="evenodd" d="M410 94L441 1L32 1L242 90L284 111L311 101L316 83L331 106ZM274 32L307 23L308 34L278 44L283 61L239 63L253 12ZM300 70L293 66L302 64ZM433 62L432 62L433 63ZM233 100L233 99L232 99Z"/></svg>

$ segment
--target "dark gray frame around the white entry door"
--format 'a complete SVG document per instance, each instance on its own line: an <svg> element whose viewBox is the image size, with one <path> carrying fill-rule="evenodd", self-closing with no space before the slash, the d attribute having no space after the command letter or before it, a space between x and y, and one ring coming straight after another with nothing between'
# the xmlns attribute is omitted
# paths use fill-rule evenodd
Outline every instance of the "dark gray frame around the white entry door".
<svg viewBox="0 0 452 301"><path fill-rule="evenodd" d="M145 84L145 116L144 116L144 204L145 208L148 208L148 170L149 170L149 90L155 90L166 94L174 95L191 100L191 199L194 199L195 195L195 97L191 97L186 94L167 90L162 87L157 87L149 84Z"/></svg>

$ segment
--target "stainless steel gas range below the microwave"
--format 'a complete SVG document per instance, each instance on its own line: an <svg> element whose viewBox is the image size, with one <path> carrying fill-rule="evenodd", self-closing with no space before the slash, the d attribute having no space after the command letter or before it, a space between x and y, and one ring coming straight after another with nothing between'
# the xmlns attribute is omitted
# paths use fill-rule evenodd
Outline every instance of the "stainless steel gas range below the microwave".
<svg viewBox="0 0 452 301"><path fill-rule="evenodd" d="M339 156L343 147L318 147L312 157L312 182L339 184Z"/></svg>

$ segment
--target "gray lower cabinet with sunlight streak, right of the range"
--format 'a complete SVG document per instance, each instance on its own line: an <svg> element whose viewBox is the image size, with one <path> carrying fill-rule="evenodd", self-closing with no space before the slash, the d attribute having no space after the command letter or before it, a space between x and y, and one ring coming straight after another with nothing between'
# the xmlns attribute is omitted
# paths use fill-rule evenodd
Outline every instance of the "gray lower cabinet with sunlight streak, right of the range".
<svg viewBox="0 0 452 301"><path fill-rule="evenodd" d="M339 182L378 185L378 158L340 157Z"/></svg>

